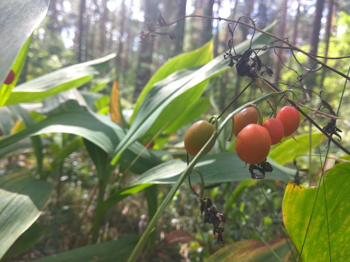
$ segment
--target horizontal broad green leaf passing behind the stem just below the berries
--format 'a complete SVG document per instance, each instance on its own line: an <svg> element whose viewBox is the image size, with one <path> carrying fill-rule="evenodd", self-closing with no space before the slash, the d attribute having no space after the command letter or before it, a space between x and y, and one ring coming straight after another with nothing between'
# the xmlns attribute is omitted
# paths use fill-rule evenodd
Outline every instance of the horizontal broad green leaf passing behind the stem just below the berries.
<svg viewBox="0 0 350 262"><path fill-rule="evenodd" d="M267 159L267 161L269 161L269 159ZM295 175L294 169L280 166L272 161L269 162L273 166L273 171L271 173L266 173L265 179L287 182L291 176ZM252 179L248 167L244 168L244 166L245 164L238 158L235 152L226 152L215 155L205 155L197 163L196 168L202 172L205 183L218 183ZM131 184L175 183L186 167L186 161L181 159L170 160L147 170ZM200 178L195 172L191 175L191 181L193 183L200 182Z"/></svg>

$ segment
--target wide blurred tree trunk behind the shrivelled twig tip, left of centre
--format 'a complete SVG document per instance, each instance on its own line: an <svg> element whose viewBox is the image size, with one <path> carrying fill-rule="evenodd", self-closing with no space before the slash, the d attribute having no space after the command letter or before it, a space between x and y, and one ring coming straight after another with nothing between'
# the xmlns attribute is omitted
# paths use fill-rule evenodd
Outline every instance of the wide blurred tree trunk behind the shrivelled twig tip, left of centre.
<svg viewBox="0 0 350 262"><path fill-rule="evenodd" d="M158 17L158 1L148 0L144 2L145 7L145 21L153 22L157 20ZM157 36L166 37L166 36ZM139 61L137 65L137 80L135 84L133 99L134 101L140 95L142 88L146 85L148 79L151 77L151 65L152 65L152 53L153 44L144 41L140 44Z"/></svg>

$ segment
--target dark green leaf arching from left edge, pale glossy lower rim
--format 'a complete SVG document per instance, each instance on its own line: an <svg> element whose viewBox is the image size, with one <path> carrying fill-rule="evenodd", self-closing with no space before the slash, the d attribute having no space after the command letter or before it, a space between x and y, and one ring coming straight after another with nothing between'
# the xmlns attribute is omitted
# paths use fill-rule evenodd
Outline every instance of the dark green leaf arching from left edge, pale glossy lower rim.
<svg viewBox="0 0 350 262"><path fill-rule="evenodd" d="M51 112L48 118L27 129L7 136L0 140L0 148L13 144L27 136L37 136L48 133L70 133L81 136L110 155L125 136L125 131L109 117L92 112L89 108L80 106L77 101L69 100ZM131 163L138 157L133 165ZM151 152L144 149L138 142L133 143L120 159L120 165L131 168L134 173L142 173L161 163Z"/></svg>

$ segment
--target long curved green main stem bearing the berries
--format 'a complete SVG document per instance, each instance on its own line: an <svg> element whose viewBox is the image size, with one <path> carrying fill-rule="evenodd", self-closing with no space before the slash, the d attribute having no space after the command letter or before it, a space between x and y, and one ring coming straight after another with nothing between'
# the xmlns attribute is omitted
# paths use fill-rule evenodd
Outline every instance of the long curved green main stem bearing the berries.
<svg viewBox="0 0 350 262"><path fill-rule="evenodd" d="M151 234L153 228L156 226L157 221L162 216L162 213L164 212L164 210L166 209L168 204L172 201L174 195L176 194L176 191L180 188L181 184L187 178L187 176L192 172L194 166L201 159L202 155L204 155L204 153L208 151L211 144L214 143L214 140L218 138L219 134L223 131L225 125L228 124L228 122L231 120L231 118L233 116L235 116L236 114L238 114L238 112L242 111L243 109L245 109L247 107L251 107L252 103L256 104L256 103L259 103L261 101L264 101L265 99L267 99L269 97L273 97L274 95L285 94L285 93L286 93L286 91L283 90L281 92L275 92L275 93L269 93L269 94L262 95L262 96L258 97L257 99L253 100L252 102L246 103L246 104L242 105L241 107L237 108L235 111L233 111L231 114L229 114L228 117L225 118L225 120L222 122L222 124L217 128L217 132L214 132L211 135L210 139L203 146L201 151L198 152L198 154L194 157L194 159L189 163L187 168L179 176L179 179L177 179L177 181L174 184L174 186L172 187L172 189L170 189L169 194L165 197L163 203L159 206L159 209L157 210L157 212L154 214L153 218L149 222L145 232L142 234L139 242L135 246L135 248L134 248L133 252L131 253L127 262L137 261L138 256L142 251L142 248L145 246L145 244L149 238L149 234ZM215 123L217 123L217 121L215 121Z"/></svg>

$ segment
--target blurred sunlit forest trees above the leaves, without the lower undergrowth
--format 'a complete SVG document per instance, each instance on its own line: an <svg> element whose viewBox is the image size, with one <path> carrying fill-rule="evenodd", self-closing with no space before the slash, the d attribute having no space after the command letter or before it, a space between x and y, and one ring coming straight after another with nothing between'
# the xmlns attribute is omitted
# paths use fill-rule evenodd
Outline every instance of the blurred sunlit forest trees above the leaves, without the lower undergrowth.
<svg viewBox="0 0 350 262"><path fill-rule="evenodd" d="M279 20L273 30L275 35L288 37L289 42L303 46L310 53L344 56L348 54L350 41L346 33L350 21L346 12L349 10L350 1L346 0L52 0L47 16L34 33L19 83L62 66L115 52L117 57L113 65L116 71L110 78L118 80L123 102L130 103L137 99L152 74L175 55L199 48L213 36L214 57L228 49L227 22L192 17L163 29L175 34L173 40L158 36L154 45L140 43L140 32L146 29L144 22L156 23L160 13L168 23L190 14L229 19L246 15L257 20L260 29ZM242 21L248 22L247 19ZM238 44L251 34L252 30L238 26L233 41ZM297 67L290 59L290 52L277 52L288 65ZM300 61L304 62L305 57L301 56ZM271 55L266 62L269 66L274 65L275 82L281 78L283 82L288 79L294 82L295 75L285 70L276 56ZM344 70L338 68L339 71L346 72L344 60L336 60L336 64L344 67ZM331 62L330 65L335 64ZM327 71L320 74L317 85L334 83L330 78L324 83L325 74L331 75ZM241 81L228 71L212 81L207 90L222 109L238 94L238 88L243 85Z"/></svg>

